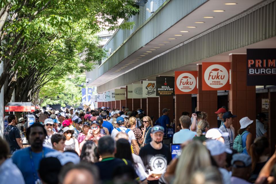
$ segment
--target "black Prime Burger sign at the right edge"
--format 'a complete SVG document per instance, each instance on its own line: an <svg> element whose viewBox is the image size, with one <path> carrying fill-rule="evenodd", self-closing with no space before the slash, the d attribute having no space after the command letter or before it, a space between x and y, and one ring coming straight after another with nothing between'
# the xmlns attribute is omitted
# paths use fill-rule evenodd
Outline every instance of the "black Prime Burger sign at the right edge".
<svg viewBox="0 0 276 184"><path fill-rule="evenodd" d="M276 49L247 49L247 85L276 85Z"/></svg>

